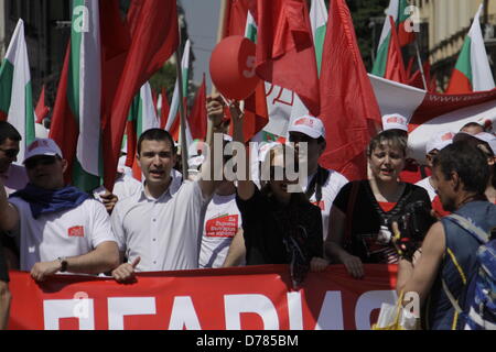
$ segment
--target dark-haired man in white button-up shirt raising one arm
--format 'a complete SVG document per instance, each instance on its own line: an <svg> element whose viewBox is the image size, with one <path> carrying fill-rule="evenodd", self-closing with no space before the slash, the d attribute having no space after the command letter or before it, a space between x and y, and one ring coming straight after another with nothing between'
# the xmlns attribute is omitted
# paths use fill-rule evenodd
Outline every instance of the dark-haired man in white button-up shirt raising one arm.
<svg viewBox="0 0 496 352"><path fill-rule="evenodd" d="M214 125L211 133L216 132L224 116L219 97L208 99L207 112ZM212 146L209 165L214 165L214 155ZM144 185L141 191L117 202L111 216L121 260L126 256L128 261L112 276L127 282L134 271L197 268L201 224L215 190L213 167L204 167L195 182L182 184L181 178L172 177L176 147L172 136L160 129L140 136L137 157Z"/></svg>

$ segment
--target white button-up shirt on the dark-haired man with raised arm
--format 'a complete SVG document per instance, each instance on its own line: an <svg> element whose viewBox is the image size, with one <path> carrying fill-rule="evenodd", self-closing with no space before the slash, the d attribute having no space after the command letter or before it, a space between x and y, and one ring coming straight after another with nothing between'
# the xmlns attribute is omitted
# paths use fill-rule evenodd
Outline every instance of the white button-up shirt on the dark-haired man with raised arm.
<svg viewBox="0 0 496 352"><path fill-rule="evenodd" d="M141 257L137 272L198 267L201 224L209 199L198 182L174 177L169 189L153 199L141 191L117 202L111 222L128 262Z"/></svg>

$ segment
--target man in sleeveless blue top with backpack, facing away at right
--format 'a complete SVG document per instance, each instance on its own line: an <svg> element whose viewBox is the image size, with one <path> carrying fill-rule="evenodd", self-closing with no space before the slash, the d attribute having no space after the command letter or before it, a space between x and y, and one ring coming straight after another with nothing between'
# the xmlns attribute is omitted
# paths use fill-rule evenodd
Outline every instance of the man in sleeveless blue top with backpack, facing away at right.
<svg viewBox="0 0 496 352"><path fill-rule="evenodd" d="M455 139L433 163L436 193L444 209L455 217L436 222L427 233L422 248L413 256L402 255L399 262L397 292L418 295L422 327L428 330L465 329L467 318L477 318L472 311L467 314L467 308L475 301L471 302L473 284L482 273L481 233L494 239L496 206L485 195L490 176L487 156L471 144ZM490 271L489 265L487 268ZM476 295L494 296L494 292L475 284ZM483 301L482 307L487 302ZM464 314L459 314L459 309ZM495 329L494 321L490 324Z"/></svg>

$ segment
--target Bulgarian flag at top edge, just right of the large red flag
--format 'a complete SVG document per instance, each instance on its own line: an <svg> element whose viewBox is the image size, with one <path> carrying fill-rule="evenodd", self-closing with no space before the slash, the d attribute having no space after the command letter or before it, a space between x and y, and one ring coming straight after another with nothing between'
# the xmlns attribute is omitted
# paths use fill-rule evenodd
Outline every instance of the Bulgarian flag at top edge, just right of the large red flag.
<svg viewBox="0 0 496 352"><path fill-rule="evenodd" d="M414 41L414 32L410 28L407 14L407 0L390 0L386 12L382 32L380 34L377 56L374 62L373 75L405 81L405 75L398 72L405 70L401 57L401 47ZM391 20L396 25L391 25ZM393 32L396 31L396 32Z"/></svg>

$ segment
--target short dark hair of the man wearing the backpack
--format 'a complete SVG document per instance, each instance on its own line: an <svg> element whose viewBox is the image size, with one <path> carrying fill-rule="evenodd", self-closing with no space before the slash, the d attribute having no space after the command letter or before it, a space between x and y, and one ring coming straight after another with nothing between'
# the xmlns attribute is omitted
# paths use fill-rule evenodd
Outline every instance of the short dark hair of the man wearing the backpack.
<svg viewBox="0 0 496 352"><path fill-rule="evenodd" d="M450 179L454 172L459 174L464 190L484 195L489 180L487 156L472 144L460 141L444 147L433 161L440 167L444 179Z"/></svg>

